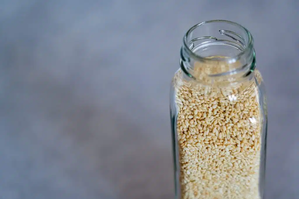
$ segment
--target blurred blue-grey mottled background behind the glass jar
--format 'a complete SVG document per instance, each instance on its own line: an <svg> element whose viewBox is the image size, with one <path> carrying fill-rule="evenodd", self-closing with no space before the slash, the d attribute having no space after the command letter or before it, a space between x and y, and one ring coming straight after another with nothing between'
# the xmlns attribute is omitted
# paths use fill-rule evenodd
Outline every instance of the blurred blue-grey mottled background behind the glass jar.
<svg viewBox="0 0 299 199"><path fill-rule="evenodd" d="M254 36L267 199L299 195L299 1L1 0L0 198L173 198L169 85L189 27Z"/></svg>

